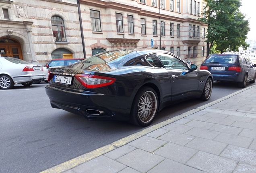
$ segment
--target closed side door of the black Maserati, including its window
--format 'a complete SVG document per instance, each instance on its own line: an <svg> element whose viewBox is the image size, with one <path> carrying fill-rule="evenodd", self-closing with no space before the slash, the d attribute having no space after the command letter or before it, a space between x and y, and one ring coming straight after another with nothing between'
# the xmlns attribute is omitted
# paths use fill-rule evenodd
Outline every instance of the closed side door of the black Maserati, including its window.
<svg viewBox="0 0 256 173"><path fill-rule="evenodd" d="M171 81L172 101L197 94L199 76L196 71L191 71L185 62L171 54L157 53L157 56L167 69Z"/></svg>

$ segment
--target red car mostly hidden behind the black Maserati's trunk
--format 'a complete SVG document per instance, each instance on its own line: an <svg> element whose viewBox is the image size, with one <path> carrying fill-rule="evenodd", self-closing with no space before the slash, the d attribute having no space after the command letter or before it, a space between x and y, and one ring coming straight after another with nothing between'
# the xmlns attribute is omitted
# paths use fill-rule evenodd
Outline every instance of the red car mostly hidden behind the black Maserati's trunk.
<svg viewBox="0 0 256 173"><path fill-rule="evenodd" d="M48 83L48 81L47 81L48 73L47 72L48 72L49 67L67 66L70 64L74 64L76 62L80 62L83 59L85 59L85 58L70 58L70 59L61 58L61 59L51 60L43 67L43 73L46 75L46 79L44 81ZM37 80L37 81L34 81L34 83L40 83L41 81L42 80Z"/></svg>

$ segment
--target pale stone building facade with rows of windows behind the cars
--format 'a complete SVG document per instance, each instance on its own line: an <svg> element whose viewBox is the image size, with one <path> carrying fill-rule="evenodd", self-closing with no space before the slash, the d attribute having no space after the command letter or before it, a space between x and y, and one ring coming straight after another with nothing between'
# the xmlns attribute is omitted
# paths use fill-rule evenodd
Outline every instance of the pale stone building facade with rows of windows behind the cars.
<svg viewBox="0 0 256 173"><path fill-rule="evenodd" d="M202 0L0 0L0 53L44 65L105 50L156 48L200 64L203 7Z"/></svg>

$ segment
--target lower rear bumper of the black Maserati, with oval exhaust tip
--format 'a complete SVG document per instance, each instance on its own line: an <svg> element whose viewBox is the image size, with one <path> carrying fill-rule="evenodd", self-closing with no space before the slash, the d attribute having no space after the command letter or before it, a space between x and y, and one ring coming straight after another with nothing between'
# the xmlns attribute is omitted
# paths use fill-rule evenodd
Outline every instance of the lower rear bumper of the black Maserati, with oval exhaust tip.
<svg viewBox="0 0 256 173"><path fill-rule="evenodd" d="M112 96L111 98L91 92L66 91L50 85L45 86L45 92L53 108L63 109L86 119L126 121L130 116L130 109L120 109L118 97Z"/></svg>

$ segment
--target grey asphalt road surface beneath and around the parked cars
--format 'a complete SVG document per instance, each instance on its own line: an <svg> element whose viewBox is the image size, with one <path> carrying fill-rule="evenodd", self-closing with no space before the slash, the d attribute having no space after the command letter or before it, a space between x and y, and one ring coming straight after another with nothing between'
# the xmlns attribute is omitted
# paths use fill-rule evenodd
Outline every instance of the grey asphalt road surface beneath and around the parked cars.
<svg viewBox="0 0 256 173"><path fill-rule="evenodd" d="M89 121L53 109L45 85L16 84L12 90L0 90L1 173L37 173L143 129L122 121ZM239 90L231 82L214 82L209 101L171 105L159 112L152 125Z"/></svg>

